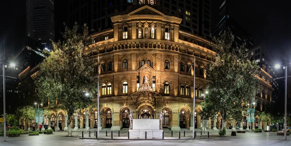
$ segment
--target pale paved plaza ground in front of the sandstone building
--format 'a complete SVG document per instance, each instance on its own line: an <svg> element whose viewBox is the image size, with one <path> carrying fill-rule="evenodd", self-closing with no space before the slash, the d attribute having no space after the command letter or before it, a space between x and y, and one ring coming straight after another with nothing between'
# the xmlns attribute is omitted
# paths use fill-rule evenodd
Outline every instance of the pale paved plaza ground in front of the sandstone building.
<svg viewBox="0 0 291 146"><path fill-rule="evenodd" d="M108 139L80 139L81 131L73 132L73 137L66 137L67 132L54 132L52 135L40 134L38 136L28 136L27 134L20 137L7 137L7 142L3 142L3 137L0 137L0 146L291 146L291 137L287 137L284 141L284 136L277 136L275 132L271 133L237 133L237 136L230 136L227 132L226 137L219 137L216 133L210 134L210 139L207 139L207 132L200 137L200 132L197 133L197 139L191 138L191 131L186 131L186 136L181 139L174 134L173 137L165 136L167 140L111 140L111 136L105 136L105 132L100 132L101 138ZM84 137L88 137L88 133ZM113 134L113 137L118 134ZM120 135L121 136L121 135ZM92 138L94 133L92 132ZM116 138L127 138L126 136ZM175 139L174 139L175 138Z"/></svg>

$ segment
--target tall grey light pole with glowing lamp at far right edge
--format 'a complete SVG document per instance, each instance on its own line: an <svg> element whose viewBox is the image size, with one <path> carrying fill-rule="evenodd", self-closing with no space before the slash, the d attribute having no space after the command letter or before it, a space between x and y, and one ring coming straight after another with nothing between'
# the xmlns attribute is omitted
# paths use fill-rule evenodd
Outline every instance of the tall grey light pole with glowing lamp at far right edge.
<svg viewBox="0 0 291 146"><path fill-rule="evenodd" d="M275 65L275 68L280 68L280 65ZM287 65L283 65L285 69L285 113L284 113L284 140L287 140ZM279 79L279 78L277 78ZM274 79L275 80L275 79Z"/></svg>

